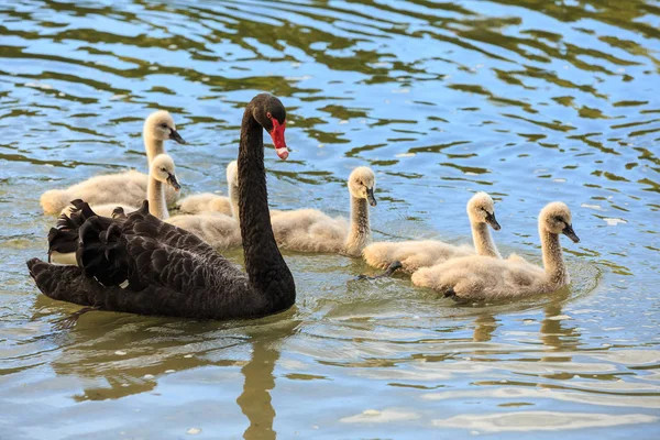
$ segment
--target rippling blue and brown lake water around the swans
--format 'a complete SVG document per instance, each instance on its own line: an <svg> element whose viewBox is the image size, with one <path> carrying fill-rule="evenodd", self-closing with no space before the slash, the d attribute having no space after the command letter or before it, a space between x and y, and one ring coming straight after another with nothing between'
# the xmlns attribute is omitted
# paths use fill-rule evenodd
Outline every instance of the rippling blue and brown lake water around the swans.
<svg viewBox="0 0 660 440"><path fill-rule="evenodd" d="M660 438L660 3L30 1L0 4L0 438ZM288 109L273 208L348 215L371 166L376 240L470 240L496 199L505 254L540 262L563 200L573 284L457 305L362 261L286 254L296 306L194 322L38 293L40 195L145 168L169 110L187 194L226 191L244 105ZM242 262L240 252L228 253Z"/></svg>

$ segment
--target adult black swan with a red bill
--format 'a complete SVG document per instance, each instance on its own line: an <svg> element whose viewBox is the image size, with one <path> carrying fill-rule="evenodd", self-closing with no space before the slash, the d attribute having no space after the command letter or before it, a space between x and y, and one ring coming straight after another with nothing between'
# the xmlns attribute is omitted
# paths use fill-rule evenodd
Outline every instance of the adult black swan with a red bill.
<svg viewBox="0 0 660 440"><path fill-rule="evenodd" d="M294 305L296 286L271 227L263 129L277 155L288 156L286 110L257 95L245 108L239 148L239 216L245 251L242 273L196 235L142 209L109 219L79 204L77 234L53 229L50 242L76 240L78 266L28 262L36 286L53 299L142 315L199 319L255 318ZM262 129L263 128L263 129Z"/></svg>

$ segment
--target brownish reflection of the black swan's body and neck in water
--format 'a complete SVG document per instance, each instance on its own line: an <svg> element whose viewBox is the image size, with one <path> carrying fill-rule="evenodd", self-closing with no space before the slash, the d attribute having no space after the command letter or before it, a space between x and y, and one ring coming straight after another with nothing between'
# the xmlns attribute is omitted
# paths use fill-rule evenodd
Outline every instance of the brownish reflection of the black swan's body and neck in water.
<svg viewBox="0 0 660 440"><path fill-rule="evenodd" d="M44 315L38 310L53 307L61 307L63 314L70 308L37 296L32 321L50 319L52 311ZM275 387L274 369L280 346L299 324L300 321L290 319L288 312L250 321L248 327L88 314L78 326L66 331L65 339L57 338L56 333L48 337L59 345L51 365L58 376L75 377L84 384L85 387L73 396L77 402L121 399L152 393L156 387L163 398L174 402L178 388L172 391L166 382L160 384L162 378L182 372L208 371L209 367L235 367L244 359L237 355L237 351L244 353L252 345L250 359L241 369L243 388L235 399L248 418L243 437L246 440L274 439L276 411L271 399ZM222 402L223 406L227 404L229 402ZM204 420L199 427L204 430Z"/></svg>

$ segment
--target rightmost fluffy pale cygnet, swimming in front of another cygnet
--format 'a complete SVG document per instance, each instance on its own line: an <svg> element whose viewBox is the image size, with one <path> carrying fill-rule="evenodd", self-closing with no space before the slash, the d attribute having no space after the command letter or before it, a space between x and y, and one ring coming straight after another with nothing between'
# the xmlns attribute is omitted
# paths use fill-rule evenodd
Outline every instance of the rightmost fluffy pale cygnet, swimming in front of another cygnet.
<svg viewBox="0 0 660 440"><path fill-rule="evenodd" d="M571 211L562 202L549 204L541 210L539 234L544 268L517 255L508 260L473 255L421 268L413 274L413 284L471 300L516 299L552 293L570 283L559 234L579 242L571 222Z"/></svg>

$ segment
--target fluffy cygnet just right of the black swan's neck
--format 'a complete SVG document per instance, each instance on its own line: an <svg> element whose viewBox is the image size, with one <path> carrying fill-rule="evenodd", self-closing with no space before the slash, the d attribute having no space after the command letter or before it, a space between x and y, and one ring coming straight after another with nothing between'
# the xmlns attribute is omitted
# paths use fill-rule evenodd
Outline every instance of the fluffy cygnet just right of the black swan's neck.
<svg viewBox="0 0 660 440"><path fill-rule="evenodd" d="M271 222L277 245L298 252L342 253L360 256L371 238L369 207L376 206L373 170L355 168L349 177L351 221L331 218L316 209L272 212Z"/></svg>

